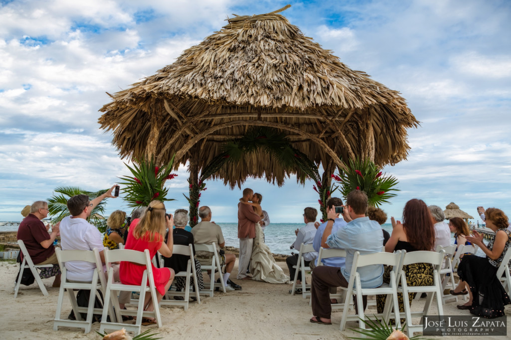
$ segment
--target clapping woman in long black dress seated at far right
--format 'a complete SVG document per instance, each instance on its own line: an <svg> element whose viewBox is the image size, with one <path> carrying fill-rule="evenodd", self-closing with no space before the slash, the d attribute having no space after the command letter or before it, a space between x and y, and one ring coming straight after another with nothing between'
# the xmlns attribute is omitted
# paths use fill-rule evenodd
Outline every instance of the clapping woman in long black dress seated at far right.
<svg viewBox="0 0 511 340"><path fill-rule="evenodd" d="M502 210L487 208L484 216L486 228L495 231L495 236L487 246L477 231L474 230L473 236L467 236L467 240L479 246L486 257L467 254L461 259L458 266L458 287L462 282L468 284L470 300L457 307L468 309L473 315L493 319L503 316L504 306L511 303L496 275L505 253L511 247L511 232L507 229L508 219ZM511 260L509 262L511 263Z"/></svg>

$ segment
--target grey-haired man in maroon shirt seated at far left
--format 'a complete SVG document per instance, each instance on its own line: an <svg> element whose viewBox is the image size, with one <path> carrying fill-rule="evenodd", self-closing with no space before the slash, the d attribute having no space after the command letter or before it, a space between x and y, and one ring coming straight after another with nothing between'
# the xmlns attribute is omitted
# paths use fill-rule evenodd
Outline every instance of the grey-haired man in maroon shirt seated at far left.
<svg viewBox="0 0 511 340"><path fill-rule="evenodd" d="M60 222L52 227L52 233L42 223L48 216L48 203L36 201L30 214L19 224L17 239L23 241L34 265L58 264L53 241L59 233ZM55 276L53 286L60 286L60 274Z"/></svg>

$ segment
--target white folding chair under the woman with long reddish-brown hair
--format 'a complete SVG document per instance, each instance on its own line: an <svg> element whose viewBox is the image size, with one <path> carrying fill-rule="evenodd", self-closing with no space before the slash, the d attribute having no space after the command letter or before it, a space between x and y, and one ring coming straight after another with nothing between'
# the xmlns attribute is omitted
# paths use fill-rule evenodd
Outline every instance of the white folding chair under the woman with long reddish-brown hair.
<svg viewBox="0 0 511 340"><path fill-rule="evenodd" d="M406 319L406 328L408 336L413 336L414 332L422 332L422 324L413 324L412 317L422 317L428 314L429 308L433 298L436 297L436 304L438 307L438 316L444 315L444 308L442 304L442 284L440 283L440 269L444 263L445 251L413 251L406 253L402 265L411 265L415 263L425 263L433 266L433 285L428 286L408 286L406 283L405 271L401 271L401 287L398 287L398 293L403 294L403 305L405 308L404 313L400 313L400 317L403 316ZM412 312L410 310L410 301L408 299L408 293L431 293L426 298L426 303L422 311Z"/></svg>

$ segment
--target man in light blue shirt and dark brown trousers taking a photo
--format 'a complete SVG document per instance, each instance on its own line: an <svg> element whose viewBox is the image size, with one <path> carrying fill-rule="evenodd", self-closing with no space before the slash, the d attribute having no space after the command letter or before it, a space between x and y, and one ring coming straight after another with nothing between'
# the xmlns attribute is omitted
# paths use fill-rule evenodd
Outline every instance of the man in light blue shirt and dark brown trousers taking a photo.
<svg viewBox="0 0 511 340"><path fill-rule="evenodd" d="M329 289L331 287L347 287L356 251L361 255L377 253L382 250L383 233L376 221L365 216L367 211L367 195L360 190L354 190L346 197L344 217L350 220L344 228L332 234L335 222L335 208L327 207L328 222L323 232L321 246L323 248L342 248L346 250L346 263L344 268L320 266L313 270L311 284L311 301L313 323L332 324L332 305L330 303ZM374 265L358 269L360 281L364 288L378 287L383 283L383 266ZM365 309L367 297L363 297ZM355 305L355 308L357 306Z"/></svg>

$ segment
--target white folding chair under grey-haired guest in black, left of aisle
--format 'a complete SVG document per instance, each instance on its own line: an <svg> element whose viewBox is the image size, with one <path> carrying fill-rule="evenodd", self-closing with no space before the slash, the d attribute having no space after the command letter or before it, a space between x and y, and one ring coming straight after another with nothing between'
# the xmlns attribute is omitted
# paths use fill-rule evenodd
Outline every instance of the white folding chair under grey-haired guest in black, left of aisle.
<svg viewBox="0 0 511 340"><path fill-rule="evenodd" d="M189 244L188 246L182 246L182 245L174 245L172 248L172 255L186 255L190 256L190 259L187 263L187 270L185 272L179 272L175 275L175 277L185 277L186 283L184 286L183 292L176 292L176 291L168 291L165 294L165 300L161 300L160 305L168 305L168 306L183 306L184 310L188 309L189 299L190 299L190 281L193 278L194 285L195 285L195 297L197 298L197 303L200 303L200 294L199 294L199 283L197 281L197 269L195 268L195 261L194 261L194 253L193 253L193 247L192 244ZM174 279L175 282L175 279ZM174 300L171 296L182 296L184 297L184 300Z"/></svg>

